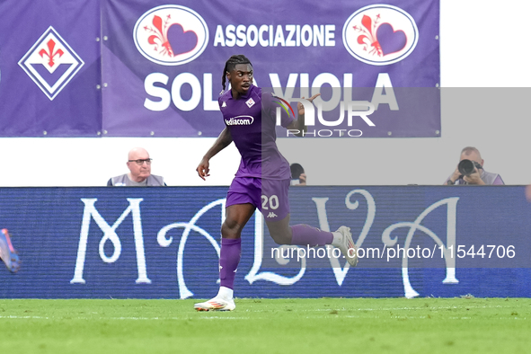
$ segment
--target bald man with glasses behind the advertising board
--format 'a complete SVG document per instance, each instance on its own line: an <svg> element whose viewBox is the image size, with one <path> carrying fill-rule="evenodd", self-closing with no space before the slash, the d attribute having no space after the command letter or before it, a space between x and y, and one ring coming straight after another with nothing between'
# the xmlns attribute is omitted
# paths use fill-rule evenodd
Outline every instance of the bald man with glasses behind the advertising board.
<svg viewBox="0 0 531 354"><path fill-rule="evenodd" d="M146 149L135 147L128 154L129 173L112 177L108 186L165 186L164 178L151 174L151 158Z"/></svg>

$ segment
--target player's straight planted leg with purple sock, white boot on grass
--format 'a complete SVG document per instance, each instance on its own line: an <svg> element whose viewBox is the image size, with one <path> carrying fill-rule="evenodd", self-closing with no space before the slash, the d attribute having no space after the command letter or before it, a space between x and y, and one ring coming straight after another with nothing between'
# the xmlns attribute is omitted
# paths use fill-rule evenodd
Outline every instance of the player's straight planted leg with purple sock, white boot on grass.
<svg viewBox="0 0 531 354"><path fill-rule="evenodd" d="M232 311L235 309L235 273L242 254L242 230L254 214L250 203L235 204L226 208L226 219L221 226L221 248L219 250L219 279L217 296L195 304L198 311Z"/></svg>

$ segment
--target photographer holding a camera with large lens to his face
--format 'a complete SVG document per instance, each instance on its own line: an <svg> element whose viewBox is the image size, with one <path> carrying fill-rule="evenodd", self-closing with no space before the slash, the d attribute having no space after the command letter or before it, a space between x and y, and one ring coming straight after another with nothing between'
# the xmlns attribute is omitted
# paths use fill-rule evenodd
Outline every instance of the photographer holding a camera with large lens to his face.
<svg viewBox="0 0 531 354"><path fill-rule="evenodd" d="M478 149L472 146L467 146L461 151L461 158L459 163L463 160L470 160L475 165L473 172L470 174L463 175L459 172L459 168L456 168L456 171L447 178L447 181L444 184L453 185L453 184L476 184L476 185L495 185L495 184L505 184L501 180L500 174L497 173L488 173L483 169L484 161L482 160L482 155Z"/></svg>

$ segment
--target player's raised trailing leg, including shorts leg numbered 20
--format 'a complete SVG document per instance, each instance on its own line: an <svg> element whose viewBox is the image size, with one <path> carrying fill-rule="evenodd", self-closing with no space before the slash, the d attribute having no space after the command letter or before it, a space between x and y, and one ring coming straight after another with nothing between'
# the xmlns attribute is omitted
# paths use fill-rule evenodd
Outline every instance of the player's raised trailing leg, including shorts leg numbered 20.
<svg viewBox="0 0 531 354"><path fill-rule="evenodd" d="M356 244L352 240L350 227L341 226L335 232L321 230L314 226L298 224L289 226L289 180L262 180L261 212L276 243L302 246L323 246L332 244L341 250L351 266L358 264ZM274 210L274 213L270 210ZM274 214L274 217L273 217Z"/></svg>

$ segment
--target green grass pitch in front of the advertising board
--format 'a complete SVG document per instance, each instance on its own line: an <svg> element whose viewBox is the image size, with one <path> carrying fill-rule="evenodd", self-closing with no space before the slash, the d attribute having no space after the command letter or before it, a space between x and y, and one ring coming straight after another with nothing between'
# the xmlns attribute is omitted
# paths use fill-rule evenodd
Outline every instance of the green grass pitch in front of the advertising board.
<svg viewBox="0 0 531 354"><path fill-rule="evenodd" d="M516 353L530 298L0 299L4 353Z"/></svg>

